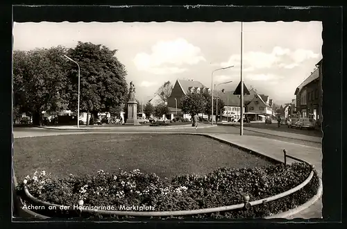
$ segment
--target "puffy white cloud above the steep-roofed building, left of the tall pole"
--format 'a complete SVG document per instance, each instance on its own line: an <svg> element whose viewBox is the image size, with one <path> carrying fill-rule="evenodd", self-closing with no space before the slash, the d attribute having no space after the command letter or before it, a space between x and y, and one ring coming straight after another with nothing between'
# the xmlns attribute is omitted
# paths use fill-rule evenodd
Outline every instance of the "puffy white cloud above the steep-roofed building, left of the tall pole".
<svg viewBox="0 0 347 229"><path fill-rule="evenodd" d="M184 65L206 61L201 49L183 38L160 41L152 46L151 53L137 53L134 63L139 71L152 74L177 74L187 71Z"/></svg>

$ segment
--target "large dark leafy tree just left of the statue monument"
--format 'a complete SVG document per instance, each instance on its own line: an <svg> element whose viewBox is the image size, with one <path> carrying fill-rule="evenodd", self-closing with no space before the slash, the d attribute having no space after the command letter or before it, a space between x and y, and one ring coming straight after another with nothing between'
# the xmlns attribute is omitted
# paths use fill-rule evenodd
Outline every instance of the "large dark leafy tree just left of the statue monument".
<svg viewBox="0 0 347 229"><path fill-rule="evenodd" d="M78 62L81 67L81 111L91 113L97 118L98 112L110 112L112 107L125 103L128 96L126 69L115 54L101 44L78 42L68 56ZM78 99L78 67L70 63L69 90L70 110L77 110Z"/></svg>

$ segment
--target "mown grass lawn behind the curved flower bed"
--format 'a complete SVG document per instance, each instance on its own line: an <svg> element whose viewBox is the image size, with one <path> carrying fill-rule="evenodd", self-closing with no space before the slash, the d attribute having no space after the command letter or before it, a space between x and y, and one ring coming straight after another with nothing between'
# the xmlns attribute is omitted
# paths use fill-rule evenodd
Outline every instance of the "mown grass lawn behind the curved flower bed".
<svg viewBox="0 0 347 229"><path fill-rule="evenodd" d="M140 169L171 178L208 173L218 167L269 164L237 148L198 135L88 134L15 139L13 162L17 179L45 170L57 176Z"/></svg>

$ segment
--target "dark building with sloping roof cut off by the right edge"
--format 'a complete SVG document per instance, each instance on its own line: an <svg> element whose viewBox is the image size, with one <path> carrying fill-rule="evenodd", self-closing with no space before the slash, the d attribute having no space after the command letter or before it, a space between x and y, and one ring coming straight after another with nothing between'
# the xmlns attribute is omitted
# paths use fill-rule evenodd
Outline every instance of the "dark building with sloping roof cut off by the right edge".
<svg viewBox="0 0 347 229"><path fill-rule="evenodd" d="M322 60L316 64L317 69L314 69L294 93L296 95L296 110L301 114L301 117L313 115L319 124L323 120Z"/></svg>

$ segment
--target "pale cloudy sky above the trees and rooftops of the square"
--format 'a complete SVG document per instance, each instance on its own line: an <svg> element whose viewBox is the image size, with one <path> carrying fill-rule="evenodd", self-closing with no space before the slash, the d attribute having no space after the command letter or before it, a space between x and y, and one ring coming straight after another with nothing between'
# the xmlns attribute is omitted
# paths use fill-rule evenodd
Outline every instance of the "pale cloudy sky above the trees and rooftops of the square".
<svg viewBox="0 0 347 229"><path fill-rule="evenodd" d="M277 103L294 99L294 91L321 60L321 22L244 23L244 83ZM167 80L198 80L235 90L240 80L240 22L151 23L15 23L13 49L28 51L78 41L118 49L139 97L148 100Z"/></svg>

